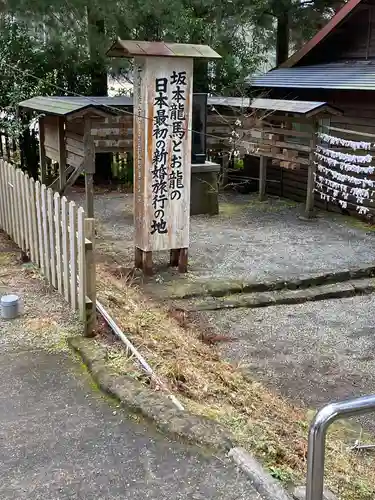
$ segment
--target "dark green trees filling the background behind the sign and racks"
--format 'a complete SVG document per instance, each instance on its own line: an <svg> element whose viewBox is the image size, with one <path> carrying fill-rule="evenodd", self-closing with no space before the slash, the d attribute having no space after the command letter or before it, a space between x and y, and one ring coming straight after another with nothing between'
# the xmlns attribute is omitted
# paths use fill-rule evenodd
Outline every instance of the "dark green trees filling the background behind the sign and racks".
<svg viewBox="0 0 375 500"><path fill-rule="evenodd" d="M246 79L288 57L343 0L7 0L0 6L0 128L25 137L16 104L35 95L106 95L127 60L105 57L116 37L202 43L222 56L198 62L194 90L244 95ZM106 155L97 169L108 171ZM109 168L110 170L110 168Z"/></svg>

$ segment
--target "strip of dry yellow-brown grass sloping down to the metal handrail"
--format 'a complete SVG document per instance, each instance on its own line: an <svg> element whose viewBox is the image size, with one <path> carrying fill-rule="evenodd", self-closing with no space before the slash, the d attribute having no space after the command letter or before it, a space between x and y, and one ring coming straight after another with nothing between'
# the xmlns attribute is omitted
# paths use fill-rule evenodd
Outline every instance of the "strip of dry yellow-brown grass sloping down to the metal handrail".
<svg viewBox="0 0 375 500"><path fill-rule="evenodd" d="M197 326L182 326L181 318L120 281L104 264L99 266L98 278L100 300L189 409L227 426L284 483L304 481L306 410L247 379L223 361L214 347L199 340ZM127 371L118 351L115 359L117 368ZM342 500L372 500L375 496L375 455L347 449L360 432L336 425L328 439L326 484ZM361 440L366 438L361 436Z"/></svg>

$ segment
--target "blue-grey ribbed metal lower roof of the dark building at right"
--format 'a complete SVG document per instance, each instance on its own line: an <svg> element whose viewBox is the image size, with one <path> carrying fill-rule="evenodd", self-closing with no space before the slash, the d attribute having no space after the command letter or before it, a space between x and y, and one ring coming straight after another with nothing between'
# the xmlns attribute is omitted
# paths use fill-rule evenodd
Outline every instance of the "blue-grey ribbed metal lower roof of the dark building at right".
<svg viewBox="0 0 375 500"><path fill-rule="evenodd" d="M375 64L367 61L279 68L252 82L255 87L375 90Z"/></svg>

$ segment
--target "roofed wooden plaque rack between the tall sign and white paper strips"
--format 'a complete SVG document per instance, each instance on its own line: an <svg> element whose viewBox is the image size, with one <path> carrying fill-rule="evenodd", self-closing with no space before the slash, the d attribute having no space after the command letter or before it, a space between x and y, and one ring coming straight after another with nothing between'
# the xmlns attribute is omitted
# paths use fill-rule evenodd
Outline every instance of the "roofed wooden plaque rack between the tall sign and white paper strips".
<svg viewBox="0 0 375 500"><path fill-rule="evenodd" d="M321 101L263 98L249 101L247 117L242 118L236 140L242 154L259 158L260 200L266 195L267 164L287 172L296 171L297 175L303 172L308 179L305 216L312 216L317 130L321 120L340 114L339 109Z"/></svg>

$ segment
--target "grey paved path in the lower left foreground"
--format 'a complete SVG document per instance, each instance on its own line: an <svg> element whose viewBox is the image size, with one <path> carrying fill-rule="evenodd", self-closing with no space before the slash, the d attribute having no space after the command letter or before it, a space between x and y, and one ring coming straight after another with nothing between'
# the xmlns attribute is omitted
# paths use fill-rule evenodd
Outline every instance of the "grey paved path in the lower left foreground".
<svg viewBox="0 0 375 500"><path fill-rule="evenodd" d="M172 442L92 387L78 361L0 354L0 499L259 499L225 458Z"/></svg>

